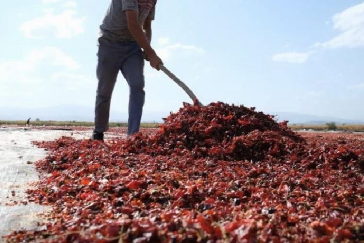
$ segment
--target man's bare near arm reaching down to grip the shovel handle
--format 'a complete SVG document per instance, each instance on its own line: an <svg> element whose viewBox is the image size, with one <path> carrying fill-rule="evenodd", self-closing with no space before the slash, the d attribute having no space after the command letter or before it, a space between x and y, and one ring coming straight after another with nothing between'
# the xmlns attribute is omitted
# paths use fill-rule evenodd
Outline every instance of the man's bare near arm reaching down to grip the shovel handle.
<svg viewBox="0 0 364 243"><path fill-rule="evenodd" d="M147 37L146 34L144 34L142 27L139 24L137 11L136 10L126 10L125 13L126 13L126 18L128 21L128 29L129 29L130 33L135 38L136 42L138 42L139 46L147 54L147 57L150 62L150 66L159 70L159 64L162 63L162 60L161 60L161 58L159 58L157 56L157 54L154 52L153 48L151 48L151 46L150 46L151 24L150 24L150 32L149 32L149 34L147 33L147 35L150 35L150 37Z"/></svg>

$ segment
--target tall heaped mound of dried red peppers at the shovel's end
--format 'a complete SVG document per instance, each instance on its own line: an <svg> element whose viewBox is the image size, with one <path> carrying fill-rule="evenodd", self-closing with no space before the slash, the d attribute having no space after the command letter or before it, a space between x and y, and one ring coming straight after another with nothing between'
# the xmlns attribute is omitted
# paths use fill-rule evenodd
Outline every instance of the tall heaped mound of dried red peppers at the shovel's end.
<svg viewBox="0 0 364 243"><path fill-rule="evenodd" d="M183 104L154 136L138 134L121 144L129 153L258 161L299 149L300 137L255 108L222 102Z"/></svg>

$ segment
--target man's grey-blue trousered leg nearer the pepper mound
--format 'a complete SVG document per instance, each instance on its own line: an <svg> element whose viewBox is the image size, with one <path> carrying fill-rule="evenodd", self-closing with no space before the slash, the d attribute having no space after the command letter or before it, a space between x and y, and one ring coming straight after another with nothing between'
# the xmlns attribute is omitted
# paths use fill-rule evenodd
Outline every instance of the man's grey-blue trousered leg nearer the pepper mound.
<svg viewBox="0 0 364 243"><path fill-rule="evenodd" d="M121 72L130 87L128 135L137 133L142 118L145 92L144 92L144 58L141 51L128 57Z"/></svg>

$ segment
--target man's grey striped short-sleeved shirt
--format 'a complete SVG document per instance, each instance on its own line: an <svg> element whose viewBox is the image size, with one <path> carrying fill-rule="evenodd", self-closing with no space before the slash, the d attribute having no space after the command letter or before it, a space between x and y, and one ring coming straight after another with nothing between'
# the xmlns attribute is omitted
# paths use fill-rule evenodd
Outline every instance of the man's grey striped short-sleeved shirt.
<svg viewBox="0 0 364 243"><path fill-rule="evenodd" d="M138 11L140 26L146 19L154 20L157 0L112 0L100 25L101 38L106 40L134 40L128 29L126 10Z"/></svg>

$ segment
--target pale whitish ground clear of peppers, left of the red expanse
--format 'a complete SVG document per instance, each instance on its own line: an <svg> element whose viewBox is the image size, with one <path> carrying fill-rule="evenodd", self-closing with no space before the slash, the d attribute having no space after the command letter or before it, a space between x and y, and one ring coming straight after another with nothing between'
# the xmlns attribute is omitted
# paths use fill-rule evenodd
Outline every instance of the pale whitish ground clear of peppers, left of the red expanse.
<svg viewBox="0 0 364 243"><path fill-rule="evenodd" d="M50 208L27 203L25 191L39 178L33 163L46 151L33 146L33 140L54 140L62 136L88 139L92 131L37 130L23 127L0 128L0 242L12 230L37 228L36 222ZM106 138L114 137L108 134ZM120 136L120 135L118 135ZM123 136L123 135L121 135ZM125 136L125 135L124 135Z"/></svg>

